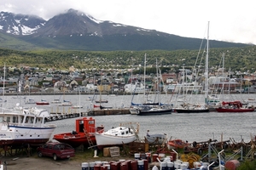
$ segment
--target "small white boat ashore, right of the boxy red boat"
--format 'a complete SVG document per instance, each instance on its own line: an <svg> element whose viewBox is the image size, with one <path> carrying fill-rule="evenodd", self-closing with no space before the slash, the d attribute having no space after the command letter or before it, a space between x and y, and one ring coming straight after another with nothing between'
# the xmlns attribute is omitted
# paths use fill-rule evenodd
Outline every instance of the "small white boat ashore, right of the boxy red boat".
<svg viewBox="0 0 256 170"><path fill-rule="evenodd" d="M98 149L102 150L104 147L129 144L137 140L137 132L138 125L137 130L135 130L132 126L119 126L113 127L103 133L96 132L96 145Z"/></svg>

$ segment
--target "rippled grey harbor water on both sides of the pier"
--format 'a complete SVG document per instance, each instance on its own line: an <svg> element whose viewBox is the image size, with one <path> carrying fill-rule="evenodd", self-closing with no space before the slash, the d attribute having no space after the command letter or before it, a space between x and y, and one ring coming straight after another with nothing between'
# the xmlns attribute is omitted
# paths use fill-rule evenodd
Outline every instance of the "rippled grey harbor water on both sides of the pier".
<svg viewBox="0 0 256 170"><path fill-rule="evenodd" d="M252 95L252 94L251 94ZM93 95L66 95L65 100L69 100L73 105L82 105L83 108L79 111L87 111L92 108L95 102L88 100L88 97ZM15 99L19 96L4 96L4 100L7 102L3 103L3 107L14 107L17 103L27 107L44 107L49 111L64 111L67 112L71 109L71 106L57 106L57 105L25 105L24 99ZM53 95L29 95L26 99L34 99L35 101L40 101L41 99L52 101L58 99L60 96ZM63 96L61 96L60 100ZM108 99L105 106L112 107L129 107L131 104L131 95L119 95L110 96L103 95L102 99ZM136 99L137 98L137 99ZM134 103L142 103L142 99L138 99L139 95L134 96ZM248 99L246 94L233 94L233 100ZM253 98L251 96L250 98ZM2 98L3 99L3 98ZM161 95L160 97L162 103L166 102L176 102L175 97ZM166 100L164 100L166 99ZM195 95L194 100L199 99L198 102L204 100L204 95ZM96 125L103 125L105 129L119 126L122 122L138 122L139 137L144 139L144 136L149 130L150 133L166 133L167 138L177 138L187 140L189 143L194 141L202 142L208 139L217 139L221 141L221 136L223 135L223 140L234 139L236 142L241 142L243 139L245 142L249 142L251 136L256 135L256 112L246 112L246 113L218 113L218 112L206 112L206 113L175 113L169 115L161 116L137 116L137 115L117 115L117 116L94 116L96 119ZM55 124L57 127L55 133L66 133L72 132L75 128L74 120L77 118L69 118L64 120L58 120L55 122L47 122L50 124Z"/></svg>

